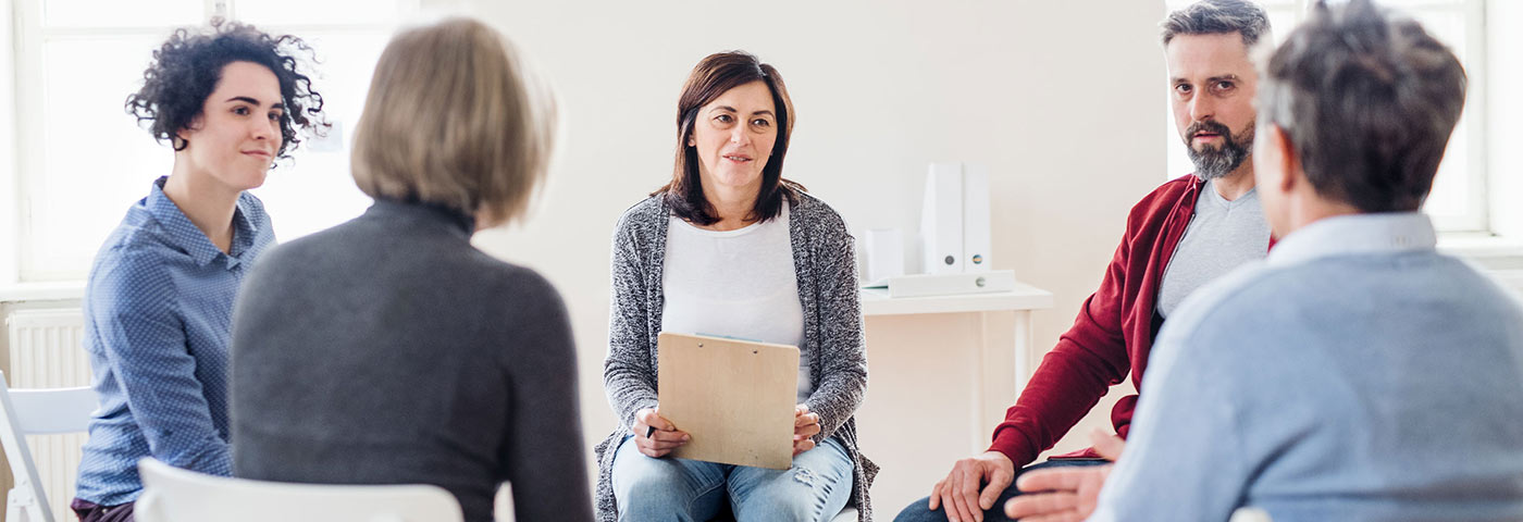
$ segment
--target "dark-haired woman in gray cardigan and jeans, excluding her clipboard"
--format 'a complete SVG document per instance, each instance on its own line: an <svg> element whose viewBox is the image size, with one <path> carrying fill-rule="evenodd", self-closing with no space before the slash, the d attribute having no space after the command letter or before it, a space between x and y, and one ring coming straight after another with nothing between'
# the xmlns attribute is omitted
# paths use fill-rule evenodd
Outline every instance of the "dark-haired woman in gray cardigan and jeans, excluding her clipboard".
<svg viewBox="0 0 1523 522"><path fill-rule="evenodd" d="M693 68L678 100L672 181L614 233L603 370L620 428L597 447L597 511L614 520L871 519L877 472L857 452L867 388L856 256L845 222L783 180L793 107L777 68L745 52ZM708 332L800 347L793 466L669 457L690 435L658 414L656 336Z"/></svg>

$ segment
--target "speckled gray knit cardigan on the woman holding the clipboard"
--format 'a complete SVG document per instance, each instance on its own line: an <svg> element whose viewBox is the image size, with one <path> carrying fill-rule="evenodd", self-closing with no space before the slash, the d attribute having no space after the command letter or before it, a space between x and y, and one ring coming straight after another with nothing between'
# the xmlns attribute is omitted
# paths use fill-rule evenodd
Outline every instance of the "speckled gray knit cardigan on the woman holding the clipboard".
<svg viewBox="0 0 1523 522"><path fill-rule="evenodd" d="M664 294L661 271L670 210L661 196L647 198L618 219L614 231L614 306L608 329L608 359L603 385L618 414L618 428L597 444L597 516L618 519L614 501L614 449L634 425L635 412L656 406L656 335L661 333ZM836 437L854 461L854 492L859 522L873 519L867 498L877 466L857 450L853 412L867 391L862 307L856 254L845 222L825 202L801 195L789 212L798 300L804 306L804 345L810 358L815 393L804 402L819 414L815 443Z"/></svg>

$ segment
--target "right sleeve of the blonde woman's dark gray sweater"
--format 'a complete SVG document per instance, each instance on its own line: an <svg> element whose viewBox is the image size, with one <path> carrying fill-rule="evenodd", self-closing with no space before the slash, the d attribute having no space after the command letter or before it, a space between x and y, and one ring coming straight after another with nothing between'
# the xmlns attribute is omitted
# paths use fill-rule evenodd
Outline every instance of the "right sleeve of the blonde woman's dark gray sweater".
<svg viewBox="0 0 1523 522"><path fill-rule="evenodd" d="M524 301L539 304L530 317L510 321L521 342L509 365L512 429L503 463L515 519L592 520L571 323L554 288L535 279Z"/></svg>

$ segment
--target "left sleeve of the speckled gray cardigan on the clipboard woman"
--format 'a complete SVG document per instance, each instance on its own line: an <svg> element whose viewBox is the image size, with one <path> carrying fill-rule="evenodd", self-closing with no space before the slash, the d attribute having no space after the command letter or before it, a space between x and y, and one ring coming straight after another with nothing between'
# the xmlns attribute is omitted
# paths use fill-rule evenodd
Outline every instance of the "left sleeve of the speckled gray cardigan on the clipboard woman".
<svg viewBox="0 0 1523 522"><path fill-rule="evenodd" d="M637 207L638 208L638 207ZM647 324L646 266L637 213L626 213L614 231L612 289L608 358L603 359L603 390L618 422L634 426L635 412L656 406L656 368Z"/></svg>

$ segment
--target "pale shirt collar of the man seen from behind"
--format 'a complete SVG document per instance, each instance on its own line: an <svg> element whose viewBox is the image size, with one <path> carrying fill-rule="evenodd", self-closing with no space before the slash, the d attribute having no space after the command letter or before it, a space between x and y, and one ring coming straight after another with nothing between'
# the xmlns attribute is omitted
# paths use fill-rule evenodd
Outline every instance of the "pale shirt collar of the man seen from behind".
<svg viewBox="0 0 1523 522"><path fill-rule="evenodd" d="M1432 251L1433 222L1419 212L1323 218L1296 230L1269 251L1269 265L1293 265L1330 256Z"/></svg>

